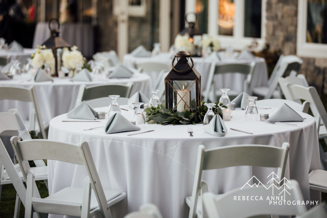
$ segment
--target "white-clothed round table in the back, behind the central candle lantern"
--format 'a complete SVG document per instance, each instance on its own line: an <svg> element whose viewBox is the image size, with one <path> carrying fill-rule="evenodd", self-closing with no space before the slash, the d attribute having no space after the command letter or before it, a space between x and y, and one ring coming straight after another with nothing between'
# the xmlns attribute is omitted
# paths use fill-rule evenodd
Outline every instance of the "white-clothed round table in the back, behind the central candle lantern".
<svg viewBox="0 0 327 218"><path fill-rule="evenodd" d="M220 61L216 61L217 64L222 63L251 63L255 62L255 68L253 72L253 79L250 85L248 94L251 95L252 88L258 86L267 86L268 81L268 71L267 64L264 58L254 57L254 59L238 59L238 53L234 53L233 57L226 57L224 52L219 52ZM209 70L211 63L214 61L213 59L203 58L203 57L192 57L194 61L194 68L201 75L201 83L202 90L205 91L207 86L207 80L209 75ZM170 53L160 53L159 55L152 57L134 57L131 54L124 55L124 64L126 66L133 67L134 63L142 63L142 62L159 62L171 64L173 60L173 56ZM175 61L176 63L176 61ZM152 79L152 82L156 81L157 74L154 72L147 72ZM244 87L244 80L246 76L243 74L223 74L223 75L215 75L215 88L216 90L219 88L229 88L233 91L241 93Z"/></svg>

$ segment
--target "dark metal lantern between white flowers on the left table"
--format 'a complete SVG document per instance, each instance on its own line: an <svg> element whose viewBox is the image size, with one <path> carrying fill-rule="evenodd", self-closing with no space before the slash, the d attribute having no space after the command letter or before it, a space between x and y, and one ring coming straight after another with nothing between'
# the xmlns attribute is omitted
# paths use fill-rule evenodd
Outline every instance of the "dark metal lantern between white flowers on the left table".
<svg viewBox="0 0 327 218"><path fill-rule="evenodd" d="M51 29L51 22L55 20L57 21L57 29ZM63 47L71 47L63 38L59 36L60 23L57 18L51 18L49 20L49 29L50 29L50 37L46 39L42 45L45 45L48 49L52 49L53 56L55 57L55 76L58 77L58 59L57 59L57 49L62 49ZM60 58L61 61L61 58Z"/></svg>

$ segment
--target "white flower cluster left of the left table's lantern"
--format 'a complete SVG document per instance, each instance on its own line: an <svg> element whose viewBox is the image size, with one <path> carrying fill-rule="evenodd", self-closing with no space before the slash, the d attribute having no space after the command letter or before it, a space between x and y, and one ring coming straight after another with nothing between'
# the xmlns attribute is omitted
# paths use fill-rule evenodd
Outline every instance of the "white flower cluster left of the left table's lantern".
<svg viewBox="0 0 327 218"><path fill-rule="evenodd" d="M44 68L48 64L51 70L55 69L55 57L51 49L46 49L45 45L37 46L36 52L32 54L32 66L34 68Z"/></svg>

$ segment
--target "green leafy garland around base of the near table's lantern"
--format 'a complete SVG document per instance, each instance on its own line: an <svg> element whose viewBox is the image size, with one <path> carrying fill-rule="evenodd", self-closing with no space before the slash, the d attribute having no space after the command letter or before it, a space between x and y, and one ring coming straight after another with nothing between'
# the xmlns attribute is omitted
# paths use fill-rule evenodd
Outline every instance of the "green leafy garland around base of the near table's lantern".
<svg viewBox="0 0 327 218"><path fill-rule="evenodd" d="M216 102L213 107L215 114L222 113L221 107L226 106L222 103ZM144 109L149 118L148 124L161 124L161 125L189 125L189 124L202 124L205 113L208 108L204 106L204 102L201 102L201 106L197 107L194 112L185 110L183 112L171 111L165 107L165 102L157 107L151 107Z"/></svg>

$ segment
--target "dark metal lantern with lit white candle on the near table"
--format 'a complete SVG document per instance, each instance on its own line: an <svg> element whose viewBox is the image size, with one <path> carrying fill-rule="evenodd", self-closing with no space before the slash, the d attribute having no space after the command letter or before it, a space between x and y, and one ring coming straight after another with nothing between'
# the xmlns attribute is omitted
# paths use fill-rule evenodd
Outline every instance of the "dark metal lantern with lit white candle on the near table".
<svg viewBox="0 0 327 218"><path fill-rule="evenodd" d="M177 63L174 65L175 58ZM192 65L188 61L191 59ZM193 68L190 53L178 52L173 61L173 69L165 78L166 108L172 111L195 111L201 104L201 75Z"/></svg>

